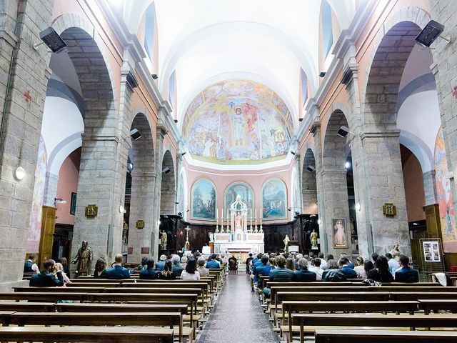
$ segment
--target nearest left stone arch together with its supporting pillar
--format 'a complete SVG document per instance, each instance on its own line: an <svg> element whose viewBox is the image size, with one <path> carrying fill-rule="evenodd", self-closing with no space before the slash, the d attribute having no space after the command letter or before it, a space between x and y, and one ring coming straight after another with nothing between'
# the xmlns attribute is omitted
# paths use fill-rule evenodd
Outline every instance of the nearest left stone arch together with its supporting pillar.
<svg viewBox="0 0 457 343"><path fill-rule="evenodd" d="M84 103L72 251L76 252L81 241L87 240L95 259L111 259L113 254L121 252L127 154L122 154L126 137L119 130L114 77L106 59L109 54L94 26L79 16L59 16L53 27L66 41ZM85 208L89 204L98 207L96 217L86 217Z"/></svg>

